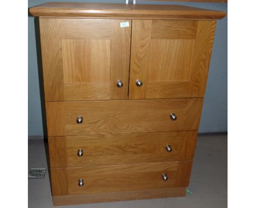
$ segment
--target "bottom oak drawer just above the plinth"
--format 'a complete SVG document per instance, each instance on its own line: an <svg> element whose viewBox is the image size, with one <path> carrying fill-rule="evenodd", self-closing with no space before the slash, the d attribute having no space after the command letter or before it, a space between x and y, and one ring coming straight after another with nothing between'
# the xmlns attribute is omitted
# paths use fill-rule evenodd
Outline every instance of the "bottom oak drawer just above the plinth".
<svg viewBox="0 0 256 208"><path fill-rule="evenodd" d="M186 187L191 167L192 161L52 168L52 192L67 195ZM80 179L83 186L79 186Z"/></svg>

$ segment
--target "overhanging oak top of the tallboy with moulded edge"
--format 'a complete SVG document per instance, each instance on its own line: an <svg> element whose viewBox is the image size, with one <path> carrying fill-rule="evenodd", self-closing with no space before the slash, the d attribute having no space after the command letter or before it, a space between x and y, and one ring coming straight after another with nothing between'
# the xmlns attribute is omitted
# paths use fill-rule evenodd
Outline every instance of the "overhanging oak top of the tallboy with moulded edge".
<svg viewBox="0 0 256 208"><path fill-rule="evenodd" d="M155 4L105 4L53 2L30 8L33 16L109 19L222 19L223 11Z"/></svg>

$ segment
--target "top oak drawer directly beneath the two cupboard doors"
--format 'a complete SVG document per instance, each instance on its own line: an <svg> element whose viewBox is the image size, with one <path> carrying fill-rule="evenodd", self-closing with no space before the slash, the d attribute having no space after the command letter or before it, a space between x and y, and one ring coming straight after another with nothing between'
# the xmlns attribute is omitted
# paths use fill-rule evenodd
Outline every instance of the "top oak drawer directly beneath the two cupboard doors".
<svg viewBox="0 0 256 208"><path fill-rule="evenodd" d="M46 102L48 136L197 130L202 103L202 98Z"/></svg>

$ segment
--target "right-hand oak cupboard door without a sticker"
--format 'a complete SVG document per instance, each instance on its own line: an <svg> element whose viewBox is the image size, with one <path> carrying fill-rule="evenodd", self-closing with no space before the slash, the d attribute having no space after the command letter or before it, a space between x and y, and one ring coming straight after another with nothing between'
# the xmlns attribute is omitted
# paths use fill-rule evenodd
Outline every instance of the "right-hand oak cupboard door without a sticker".
<svg viewBox="0 0 256 208"><path fill-rule="evenodd" d="M205 20L133 20L129 99L203 97L215 27Z"/></svg>

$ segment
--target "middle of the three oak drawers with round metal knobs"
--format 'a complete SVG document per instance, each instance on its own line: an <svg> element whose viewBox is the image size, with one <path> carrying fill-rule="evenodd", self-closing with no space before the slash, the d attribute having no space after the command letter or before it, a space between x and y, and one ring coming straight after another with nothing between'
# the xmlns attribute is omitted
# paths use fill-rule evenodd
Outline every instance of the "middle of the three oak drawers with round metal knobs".
<svg viewBox="0 0 256 208"><path fill-rule="evenodd" d="M49 137L51 168L193 160L197 131Z"/></svg>

